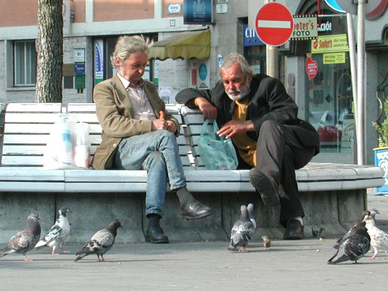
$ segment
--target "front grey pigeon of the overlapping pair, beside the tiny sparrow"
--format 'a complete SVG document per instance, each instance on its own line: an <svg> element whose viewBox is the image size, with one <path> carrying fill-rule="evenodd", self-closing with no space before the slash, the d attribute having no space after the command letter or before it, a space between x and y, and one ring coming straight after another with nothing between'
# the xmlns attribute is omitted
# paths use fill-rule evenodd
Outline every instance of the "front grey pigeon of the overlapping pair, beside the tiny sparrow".
<svg viewBox="0 0 388 291"><path fill-rule="evenodd" d="M228 250L238 250L240 252L240 246L242 246L244 248L243 251L246 252L245 247L252 239L255 228L252 221L249 219L248 210L245 205L240 207L240 211L240 218L234 223L230 233L230 245Z"/></svg>

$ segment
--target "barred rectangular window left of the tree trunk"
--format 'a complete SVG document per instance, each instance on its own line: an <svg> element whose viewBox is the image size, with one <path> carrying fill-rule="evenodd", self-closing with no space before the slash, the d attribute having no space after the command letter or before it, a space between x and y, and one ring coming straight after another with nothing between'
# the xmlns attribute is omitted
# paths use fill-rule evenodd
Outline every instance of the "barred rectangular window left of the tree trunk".
<svg viewBox="0 0 388 291"><path fill-rule="evenodd" d="M36 79L36 50L34 41L14 42L14 85L34 86Z"/></svg>

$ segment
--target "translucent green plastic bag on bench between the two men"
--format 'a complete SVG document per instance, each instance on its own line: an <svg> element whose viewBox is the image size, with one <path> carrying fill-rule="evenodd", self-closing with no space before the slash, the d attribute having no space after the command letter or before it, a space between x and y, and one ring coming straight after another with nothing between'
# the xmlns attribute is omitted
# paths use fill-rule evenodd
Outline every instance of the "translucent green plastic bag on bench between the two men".
<svg viewBox="0 0 388 291"><path fill-rule="evenodd" d="M198 139L198 147L208 170L235 170L239 164L236 149L230 138L219 137L216 133L219 128L217 122L213 119L213 128L208 129L209 119L207 119L201 130Z"/></svg>

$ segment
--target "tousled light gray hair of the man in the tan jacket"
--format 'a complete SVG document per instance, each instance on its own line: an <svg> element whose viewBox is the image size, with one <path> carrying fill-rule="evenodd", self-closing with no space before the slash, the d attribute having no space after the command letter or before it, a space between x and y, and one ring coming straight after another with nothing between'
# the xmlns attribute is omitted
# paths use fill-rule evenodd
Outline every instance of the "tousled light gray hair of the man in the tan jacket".
<svg viewBox="0 0 388 291"><path fill-rule="evenodd" d="M143 35L123 35L120 36L116 42L116 46L114 47L113 54L111 56L111 64L116 67L115 60L116 58L120 59L120 63L122 64L131 53L134 52L147 52L147 50L152 47L153 41L149 38L145 38Z"/></svg>

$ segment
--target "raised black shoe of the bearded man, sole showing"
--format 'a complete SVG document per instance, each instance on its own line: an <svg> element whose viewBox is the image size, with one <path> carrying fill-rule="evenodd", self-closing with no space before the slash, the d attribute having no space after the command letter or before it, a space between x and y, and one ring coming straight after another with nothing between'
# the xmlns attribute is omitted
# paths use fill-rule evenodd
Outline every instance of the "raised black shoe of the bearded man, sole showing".
<svg viewBox="0 0 388 291"><path fill-rule="evenodd" d="M279 185L270 175L262 173L258 168L252 168L249 171L249 181L259 192L266 206L273 207L280 204Z"/></svg>

